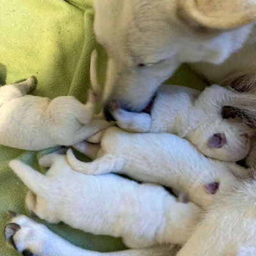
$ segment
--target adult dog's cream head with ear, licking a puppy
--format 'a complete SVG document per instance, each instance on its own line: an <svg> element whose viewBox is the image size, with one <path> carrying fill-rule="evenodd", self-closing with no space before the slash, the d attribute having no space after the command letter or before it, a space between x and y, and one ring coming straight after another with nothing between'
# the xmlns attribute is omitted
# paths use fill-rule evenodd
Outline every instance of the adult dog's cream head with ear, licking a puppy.
<svg viewBox="0 0 256 256"><path fill-rule="evenodd" d="M141 111L183 62L220 64L256 20L252 0L95 0L95 35L108 51L105 108Z"/></svg>

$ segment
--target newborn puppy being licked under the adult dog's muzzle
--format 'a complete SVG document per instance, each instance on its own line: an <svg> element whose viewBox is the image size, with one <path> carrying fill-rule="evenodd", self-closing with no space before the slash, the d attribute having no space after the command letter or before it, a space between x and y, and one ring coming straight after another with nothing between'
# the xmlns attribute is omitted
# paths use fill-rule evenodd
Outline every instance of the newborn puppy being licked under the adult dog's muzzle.
<svg viewBox="0 0 256 256"><path fill-rule="evenodd" d="M184 86L164 85L157 91L151 115L120 108L112 113L118 126L126 131L170 132L188 139L205 156L235 162L250 150L249 129L241 119L223 119L221 111L223 106L243 97L239 94L216 84L202 93Z"/></svg>

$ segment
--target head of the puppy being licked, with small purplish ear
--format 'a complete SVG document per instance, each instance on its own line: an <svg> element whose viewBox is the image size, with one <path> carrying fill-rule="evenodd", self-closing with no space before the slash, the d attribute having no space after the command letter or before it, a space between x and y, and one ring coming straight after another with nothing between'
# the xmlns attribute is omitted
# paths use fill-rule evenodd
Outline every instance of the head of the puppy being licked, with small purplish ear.
<svg viewBox="0 0 256 256"><path fill-rule="evenodd" d="M202 154L214 159L236 162L250 150L250 130L240 118L205 122L189 132L188 139Z"/></svg>

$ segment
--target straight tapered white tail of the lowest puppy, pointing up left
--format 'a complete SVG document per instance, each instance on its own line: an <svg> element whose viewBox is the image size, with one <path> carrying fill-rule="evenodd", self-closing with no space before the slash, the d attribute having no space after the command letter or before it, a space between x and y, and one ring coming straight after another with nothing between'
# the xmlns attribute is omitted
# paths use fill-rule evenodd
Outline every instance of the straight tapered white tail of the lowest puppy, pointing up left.
<svg viewBox="0 0 256 256"><path fill-rule="evenodd" d="M10 161L9 166L24 182L24 184L36 195L42 196L43 198L47 198L49 196L52 182L48 177L42 175L42 173L37 172L28 164L17 159Z"/></svg>

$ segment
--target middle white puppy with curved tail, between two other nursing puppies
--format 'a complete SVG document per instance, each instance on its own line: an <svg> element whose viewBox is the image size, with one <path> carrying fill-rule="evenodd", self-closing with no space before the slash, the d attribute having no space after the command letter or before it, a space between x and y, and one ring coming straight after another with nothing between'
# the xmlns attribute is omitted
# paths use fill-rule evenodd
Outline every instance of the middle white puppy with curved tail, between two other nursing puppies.
<svg viewBox="0 0 256 256"><path fill-rule="evenodd" d="M82 142L74 147L95 159L83 163L69 149L68 162L77 172L124 173L136 180L170 187L177 195L184 192L204 209L214 202L217 191L221 193L236 182L234 175L246 177L251 171L236 163L209 159L189 141L167 133L134 134L111 127L100 145Z"/></svg>

